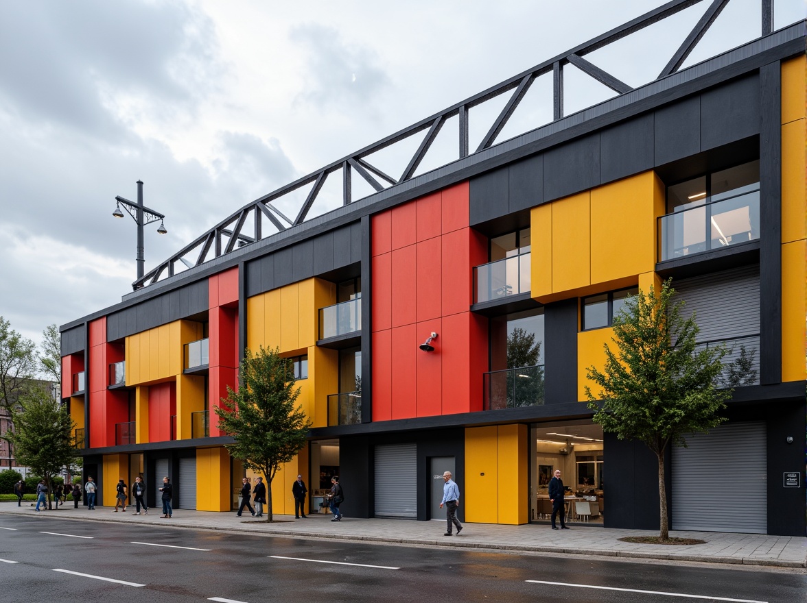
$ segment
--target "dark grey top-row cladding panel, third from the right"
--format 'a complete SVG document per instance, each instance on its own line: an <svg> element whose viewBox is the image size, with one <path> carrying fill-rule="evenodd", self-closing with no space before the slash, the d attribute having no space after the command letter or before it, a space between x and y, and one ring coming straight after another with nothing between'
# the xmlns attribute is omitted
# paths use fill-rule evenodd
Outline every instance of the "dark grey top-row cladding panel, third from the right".
<svg viewBox="0 0 807 603"><path fill-rule="evenodd" d="M600 132L600 183L653 168L653 121L648 113Z"/></svg>

